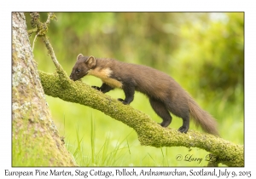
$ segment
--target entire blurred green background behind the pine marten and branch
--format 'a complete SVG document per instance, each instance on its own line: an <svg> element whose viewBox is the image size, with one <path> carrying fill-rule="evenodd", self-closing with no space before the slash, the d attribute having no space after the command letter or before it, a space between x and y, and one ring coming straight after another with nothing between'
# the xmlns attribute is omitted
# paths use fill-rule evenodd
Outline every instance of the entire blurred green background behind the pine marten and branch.
<svg viewBox="0 0 256 179"><path fill-rule="evenodd" d="M41 20L45 21L47 13L40 14ZM51 21L47 36L68 75L80 53L152 66L175 78L203 109L217 118L218 130L224 139L243 143L243 13L55 15L57 21ZM31 29L28 13L26 22L28 29ZM30 38L31 43L34 37L35 34ZM35 42L33 54L38 69L55 72L55 66L40 38ZM101 80L93 77L85 77L83 80L90 85L102 84ZM113 90L107 95L115 99L124 97L122 90ZM55 124L59 126L61 135L66 137L68 150L75 157L77 155L79 165L101 165L91 164L94 160L94 155L90 154L91 148L100 153L102 146L105 146L106 151L117 153L117 143L120 144L119 141L124 139L126 144L122 143L123 151L119 150L124 157L118 157L119 163L108 165L207 165L175 160L175 156L181 153L193 153L198 158L204 158L205 151L192 149L188 152L184 147L143 147L137 141L134 130L104 113L49 96L46 99ZM147 113L157 122L161 121L150 107L147 97L142 94L136 93L131 107ZM94 145L90 142L91 118L96 121ZM175 129L182 124L182 120L175 116L172 121L170 127ZM191 123L190 129L195 130L195 124ZM78 136L83 141L78 140ZM78 148L80 153L77 152ZM102 156L107 156L104 153ZM109 153L109 156L112 154Z"/></svg>

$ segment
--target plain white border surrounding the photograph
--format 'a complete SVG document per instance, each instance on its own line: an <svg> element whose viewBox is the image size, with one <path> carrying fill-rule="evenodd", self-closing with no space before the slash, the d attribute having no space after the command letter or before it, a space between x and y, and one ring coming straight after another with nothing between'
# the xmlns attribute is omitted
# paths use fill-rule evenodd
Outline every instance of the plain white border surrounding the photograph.
<svg viewBox="0 0 256 179"><path fill-rule="evenodd" d="M1 88L0 88L0 177L4 176L6 170L36 170L36 168L11 168L11 12L12 11L244 11L245 12L245 149L246 159L245 168L231 168L228 170L251 170L253 171L253 163L255 155L253 149L255 146L255 7L253 1L8 1L1 3L0 15L0 39L1 39ZM61 170L61 168L57 168ZM67 169L67 168L64 168ZM99 169L99 168L97 168ZM108 169L108 168L105 168ZM115 170L115 168L110 168ZM142 170L144 168L136 168ZM174 168L171 168L174 170ZM179 168L180 170L191 170L190 168ZM200 170L200 168L192 168ZM49 170L43 168L42 170ZM68 169L76 170L76 169ZM88 169L90 170L90 169ZM170 170L170 168L162 168L161 170ZM224 169L223 169L224 170ZM254 173L253 176L256 174ZM51 176L49 176L51 177ZM52 176L53 177L53 176ZM55 176L56 177L56 176ZM81 176L80 176L81 177ZM146 177L146 176L145 176ZM148 177L148 176L147 176ZM194 176L194 178L199 176ZM24 177L26 178L26 177ZM60 178L60 177L59 177ZM66 177L69 178L69 177ZM74 178L74 177L72 177ZM116 177L117 178L117 177ZM193 177L191 177L193 178ZM222 178L222 177L221 177Z"/></svg>

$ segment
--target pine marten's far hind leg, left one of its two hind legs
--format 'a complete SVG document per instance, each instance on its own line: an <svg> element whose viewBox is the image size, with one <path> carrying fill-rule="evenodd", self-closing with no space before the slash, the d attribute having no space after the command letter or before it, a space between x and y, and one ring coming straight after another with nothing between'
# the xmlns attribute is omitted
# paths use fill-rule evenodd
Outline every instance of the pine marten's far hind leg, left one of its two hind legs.
<svg viewBox="0 0 256 179"><path fill-rule="evenodd" d="M172 122L172 116L169 111L166 109L166 105L154 98L149 98L151 107L154 109L154 112L163 119L163 122L160 124L162 127L167 127Z"/></svg>

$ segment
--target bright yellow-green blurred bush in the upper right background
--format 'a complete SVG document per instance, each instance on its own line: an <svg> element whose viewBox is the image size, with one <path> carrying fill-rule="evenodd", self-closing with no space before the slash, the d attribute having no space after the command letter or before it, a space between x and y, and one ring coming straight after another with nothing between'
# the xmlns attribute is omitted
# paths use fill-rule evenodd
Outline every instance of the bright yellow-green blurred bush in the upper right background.
<svg viewBox="0 0 256 179"><path fill-rule="evenodd" d="M195 21L193 28L183 24L183 44L176 58L186 68L183 78L193 77L192 88L199 87L200 93L207 90L203 92L228 95L232 101L236 88L243 90L243 20L243 13L212 14L210 23Z"/></svg>

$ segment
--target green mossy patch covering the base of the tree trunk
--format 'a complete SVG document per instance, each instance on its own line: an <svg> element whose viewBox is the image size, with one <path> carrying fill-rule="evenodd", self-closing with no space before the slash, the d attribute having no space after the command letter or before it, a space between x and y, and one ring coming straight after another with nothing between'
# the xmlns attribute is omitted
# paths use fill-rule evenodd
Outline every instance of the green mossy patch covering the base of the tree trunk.
<svg viewBox="0 0 256 179"><path fill-rule="evenodd" d="M22 120L20 130L16 130L17 121L13 124L16 131L12 141L13 166L73 166L74 161L63 151L62 142L53 141L46 132L47 126L40 124L32 128L31 123L28 119Z"/></svg>

